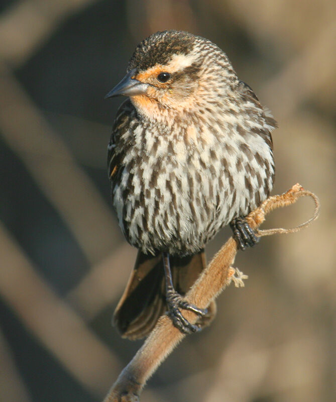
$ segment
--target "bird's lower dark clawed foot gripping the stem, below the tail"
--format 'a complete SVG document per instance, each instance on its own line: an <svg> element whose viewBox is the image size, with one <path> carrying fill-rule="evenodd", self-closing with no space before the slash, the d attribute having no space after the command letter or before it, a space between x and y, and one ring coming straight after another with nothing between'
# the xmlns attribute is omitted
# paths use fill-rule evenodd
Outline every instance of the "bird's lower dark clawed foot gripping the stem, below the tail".
<svg viewBox="0 0 336 402"><path fill-rule="evenodd" d="M168 316L172 320L174 326L183 334L192 334L201 329L201 325L189 323L189 321L182 316L180 309L192 311L199 317L205 317L208 313L207 309L199 309L198 307L186 302L186 300L184 300L175 290L167 291L166 301Z"/></svg>

